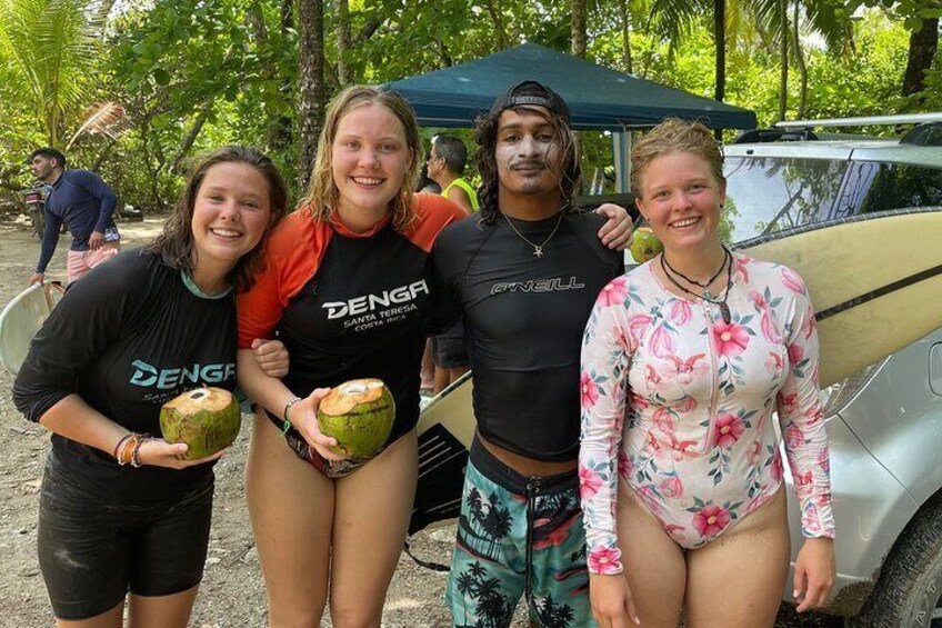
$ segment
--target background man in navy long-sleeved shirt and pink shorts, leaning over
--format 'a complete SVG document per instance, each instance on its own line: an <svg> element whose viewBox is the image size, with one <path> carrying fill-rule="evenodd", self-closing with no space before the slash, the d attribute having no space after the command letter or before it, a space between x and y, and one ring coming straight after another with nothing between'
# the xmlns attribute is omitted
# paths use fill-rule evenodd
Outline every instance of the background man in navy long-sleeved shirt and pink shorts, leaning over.
<svg viewBox="0 0 942 628"><path fill-rule="evenodd" d="M121 242L112 218L118 197L101 177L88 170L66 170L66 156L54 148L34 150L30 166L37 179L52 186L46 198L46 231L30 286L42 282L63 222L72 233L67 262L70 282L118 255Z"/></svg>

